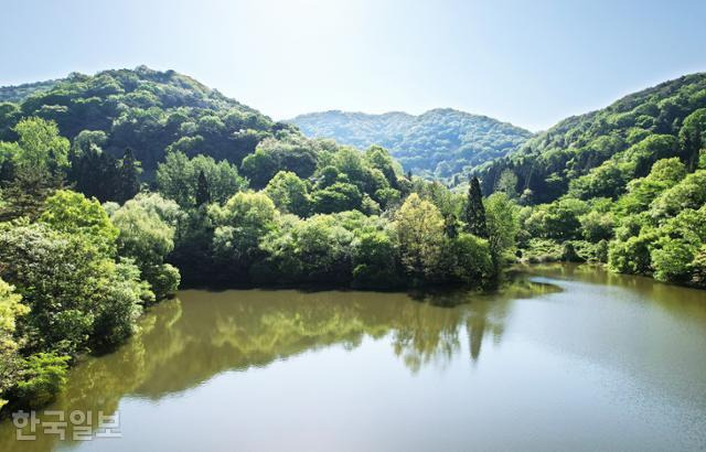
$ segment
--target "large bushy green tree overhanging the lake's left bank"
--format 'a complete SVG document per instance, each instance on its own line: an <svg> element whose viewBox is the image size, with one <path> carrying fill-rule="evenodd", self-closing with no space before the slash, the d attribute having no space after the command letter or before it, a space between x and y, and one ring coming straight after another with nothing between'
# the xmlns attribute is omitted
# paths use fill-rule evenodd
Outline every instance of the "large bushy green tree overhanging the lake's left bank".
<svg viewBox="0 0 706 452"><path fill-rule="evenodd" d="M92 344L125 340L143 290L125 276L82 234L46 224L0 229L0 278L15 286L31 309L19 322L30 351L75 355Z"/></svg>

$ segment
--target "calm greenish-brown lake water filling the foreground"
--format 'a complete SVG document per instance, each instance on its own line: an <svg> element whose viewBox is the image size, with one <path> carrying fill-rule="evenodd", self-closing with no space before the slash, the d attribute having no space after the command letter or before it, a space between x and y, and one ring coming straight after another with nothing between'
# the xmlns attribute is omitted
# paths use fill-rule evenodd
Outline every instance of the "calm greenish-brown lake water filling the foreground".
<svg viewBox="0 0 706 452"><path fill-rule="evenodd" d="M706 291L574 266L484 297L183 291L49 409L121 438L6 421L0 451L706 450Z"/></svg>

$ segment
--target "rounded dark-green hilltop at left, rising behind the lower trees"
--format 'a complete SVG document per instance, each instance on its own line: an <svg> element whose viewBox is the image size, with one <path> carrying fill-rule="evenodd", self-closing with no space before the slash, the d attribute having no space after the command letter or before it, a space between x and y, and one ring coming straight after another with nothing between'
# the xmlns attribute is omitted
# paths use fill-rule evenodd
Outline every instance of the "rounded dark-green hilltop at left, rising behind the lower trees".
<svg viewBox="0 0 706 452"><path fill-rule="evenodd" d="M116 157L130 148L149 175L168 149L203 153L239 164L277 131L293 129L225 97L174 71L104 71L71 74L61 80L2 88L0 141L17 139L12 128L23 117L56 121L64 137L83 131Z"/></svg>

